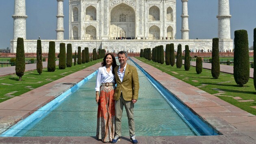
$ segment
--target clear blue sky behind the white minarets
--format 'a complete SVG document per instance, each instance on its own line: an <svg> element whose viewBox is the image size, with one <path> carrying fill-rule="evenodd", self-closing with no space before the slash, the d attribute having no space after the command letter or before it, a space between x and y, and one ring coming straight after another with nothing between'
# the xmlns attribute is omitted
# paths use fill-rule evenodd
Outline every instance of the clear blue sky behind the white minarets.
<svg viewBox="0 0 256 144"><path fill-rule="evenodd" d="M64 0L64 38L68 39L69 0ZM177 34L181 38L182 2L176 0ZM256 28L256 0L230 0L231 38L235 30L247 30L249 47L253 45ZM0 0L0 49L10 47L13 38L14 0ZM212 39L218 36L218 0L189 0L189 38ZM56 39L56 0L26 0L26 38Z"/></svg>

